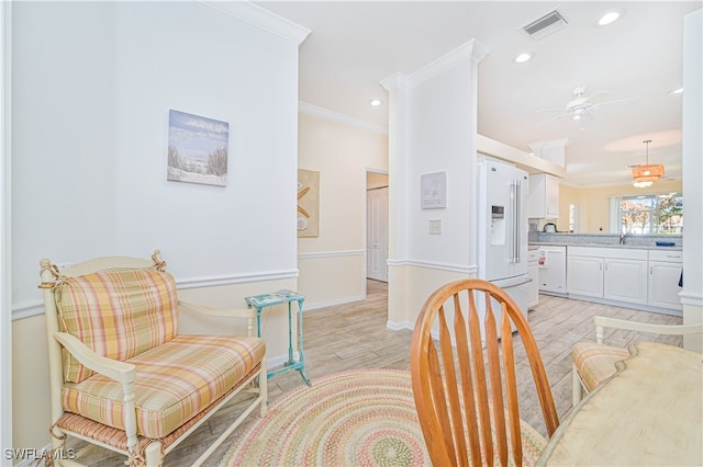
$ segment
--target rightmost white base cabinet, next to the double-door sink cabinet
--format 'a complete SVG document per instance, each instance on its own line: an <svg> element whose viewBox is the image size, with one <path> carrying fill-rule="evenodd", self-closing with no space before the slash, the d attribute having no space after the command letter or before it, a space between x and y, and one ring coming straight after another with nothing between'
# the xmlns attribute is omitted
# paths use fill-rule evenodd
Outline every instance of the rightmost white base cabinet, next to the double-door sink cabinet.
<svg viewBox="0 0 703 467"><path fill-rule="evenodd" d="M683 310L679 293L681 251L649 251L648 305Z"/></svg>

